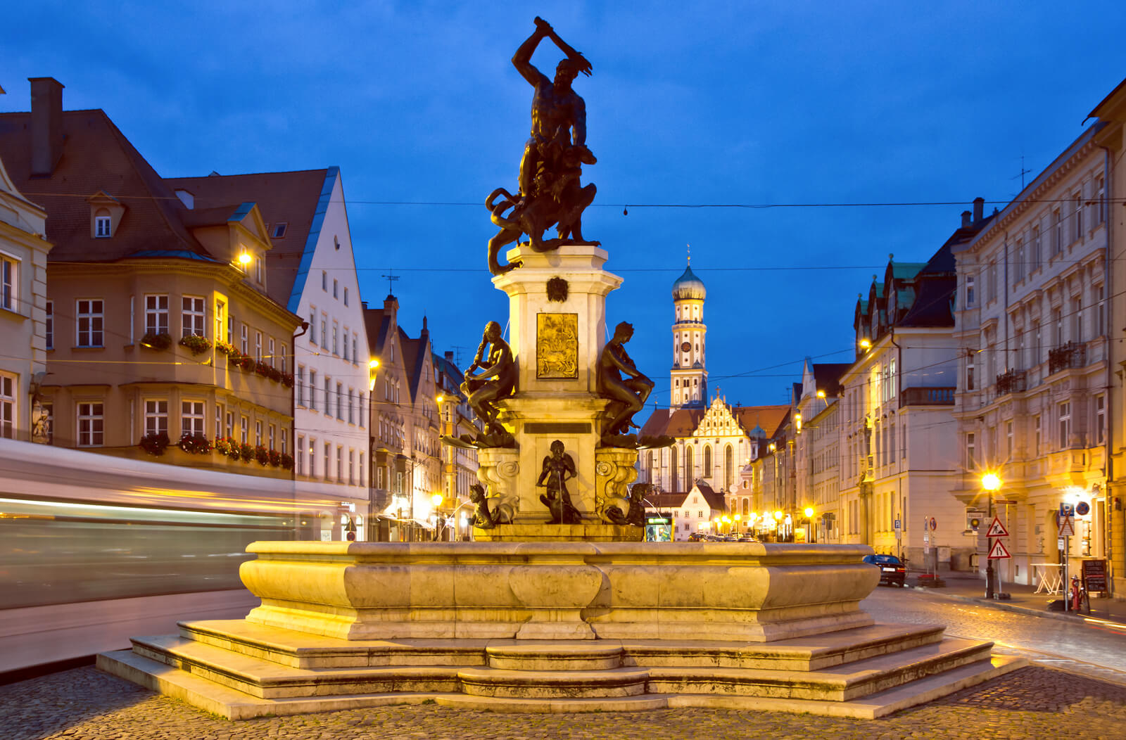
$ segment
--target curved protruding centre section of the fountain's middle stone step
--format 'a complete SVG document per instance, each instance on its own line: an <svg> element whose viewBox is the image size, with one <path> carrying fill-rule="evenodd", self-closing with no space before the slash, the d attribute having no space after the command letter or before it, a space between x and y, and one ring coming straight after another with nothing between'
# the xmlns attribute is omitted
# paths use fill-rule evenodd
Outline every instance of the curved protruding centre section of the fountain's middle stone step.
<svg viewBox="0 0 1126 740"><path fill-rule="evenodd" d="M646 668L607 670L507 670L462 668L462 692L497 698L605 698L640 696L649 679Z"/></svg>

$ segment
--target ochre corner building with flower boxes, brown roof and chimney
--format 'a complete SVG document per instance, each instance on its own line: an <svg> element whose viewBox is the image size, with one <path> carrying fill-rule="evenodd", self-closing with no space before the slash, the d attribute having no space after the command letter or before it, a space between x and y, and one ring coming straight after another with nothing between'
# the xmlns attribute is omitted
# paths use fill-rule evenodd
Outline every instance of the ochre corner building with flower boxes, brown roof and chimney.
<svg viewBox="0 0 1126 740"><path fill-rule="evenodd" d="M0 159L42 193L54 244L39 383L52 443L292 477L285 357L301 322L268 295L258 206L190 208L104 111L64 111L62 89L35 78L32 111L0 114Z"/></svg>

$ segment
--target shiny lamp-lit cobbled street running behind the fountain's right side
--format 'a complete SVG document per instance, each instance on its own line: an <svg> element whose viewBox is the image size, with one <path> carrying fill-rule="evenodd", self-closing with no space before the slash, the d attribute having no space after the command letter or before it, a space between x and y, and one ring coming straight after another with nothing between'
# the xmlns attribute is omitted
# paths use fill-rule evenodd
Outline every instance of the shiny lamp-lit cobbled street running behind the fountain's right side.
<svg viewBox="0 0 1126 740"><path fill-rule="evenodd" d="M879 622L942 624L953 637L993 640L997 652L1126 684L1126 631L1107 622L1049 620L890 587L877 588L860 606Z"/></svg>

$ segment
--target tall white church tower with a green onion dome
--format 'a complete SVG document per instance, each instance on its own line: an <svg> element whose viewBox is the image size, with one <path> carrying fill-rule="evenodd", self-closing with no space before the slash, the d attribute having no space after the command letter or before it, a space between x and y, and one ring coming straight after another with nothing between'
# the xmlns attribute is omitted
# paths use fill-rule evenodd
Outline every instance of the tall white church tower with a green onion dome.
<svg viewBox="0 0 1126 740"><path fill-rule="evenodd" d="M672 283L672 372L669 408L703 408L707 405L707 370L704 369L704 298L707 290L696 277L689 256L685 273Z"/></svg>

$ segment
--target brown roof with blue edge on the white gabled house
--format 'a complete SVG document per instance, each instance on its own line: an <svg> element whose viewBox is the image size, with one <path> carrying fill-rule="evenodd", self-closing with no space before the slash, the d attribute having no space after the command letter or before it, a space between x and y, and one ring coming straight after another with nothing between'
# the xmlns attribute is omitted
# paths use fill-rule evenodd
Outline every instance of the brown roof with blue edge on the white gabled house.
<svg viewBox="0 0 1126 740"><path fill-rule="evenodd" d="M224 204L253 201L262 220L270 225L272 249L266 260L266 285L270 298L292 312L301 308L301 294L320 238L321 224L332 188L339 177L336 166L293 172L166 178L173 190L187 190L197 211ZM278 224L285 235L272 238Z"/></svg>

